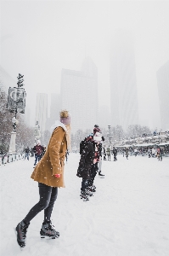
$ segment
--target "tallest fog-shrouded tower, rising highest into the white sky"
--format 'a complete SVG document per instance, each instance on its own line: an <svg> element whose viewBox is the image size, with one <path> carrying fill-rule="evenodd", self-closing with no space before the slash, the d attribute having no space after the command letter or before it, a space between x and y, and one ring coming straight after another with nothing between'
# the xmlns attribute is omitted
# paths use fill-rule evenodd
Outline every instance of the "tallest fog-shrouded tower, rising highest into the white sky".
<svg viewBox="0 0 169 256"><path fill-rule="evenodd" d="M111 125L138 124L138 92L132 33L116 31L110 42Z"/></svg>

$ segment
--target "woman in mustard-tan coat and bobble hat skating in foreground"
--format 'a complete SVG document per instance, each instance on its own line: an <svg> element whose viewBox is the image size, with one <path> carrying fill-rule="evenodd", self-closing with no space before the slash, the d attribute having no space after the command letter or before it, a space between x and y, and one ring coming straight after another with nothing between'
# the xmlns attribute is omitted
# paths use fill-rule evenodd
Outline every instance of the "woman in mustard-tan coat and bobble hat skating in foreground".
<svg viewBox="0 0 169 256"><path fill-rule="evenodd" d="M60 121L55 121L51 131L53 133L46 153L31 174L31 178L38 182L40 200L15 229L20 247L25 247L26 231L31 219L42 210L44 210L44 221L40 230L41 237L59 237L59 232L54 230L50 218L58 195L58 187L65 188L64 160L65 152L70 146L70 115L68 111L60 112Z"/></svg>

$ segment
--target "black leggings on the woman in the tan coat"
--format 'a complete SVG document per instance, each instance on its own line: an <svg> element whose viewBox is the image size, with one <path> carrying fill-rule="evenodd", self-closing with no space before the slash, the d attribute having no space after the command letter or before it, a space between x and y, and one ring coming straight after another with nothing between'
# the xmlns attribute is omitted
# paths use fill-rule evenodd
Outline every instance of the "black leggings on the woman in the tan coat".
<svg viewBox="0 0 169 256"><path fill-rule="evenodd" d="M40 200L37 205L31 208L30 212L25 216L25 223L30 223L37 213L44 210L44 221L50 220L51 214L58 195L58 188L49 187L43 183L38 183Z"/></svg>

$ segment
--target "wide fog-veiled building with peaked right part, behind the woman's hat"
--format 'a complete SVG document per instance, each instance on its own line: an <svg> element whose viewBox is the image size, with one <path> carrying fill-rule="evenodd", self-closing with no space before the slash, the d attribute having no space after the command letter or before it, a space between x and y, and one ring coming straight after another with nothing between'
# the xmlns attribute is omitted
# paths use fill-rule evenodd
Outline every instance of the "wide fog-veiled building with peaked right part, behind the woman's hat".
<svg viewBox="0 0 169 256"><path fill-rule="evenodd" d="M89 57L81 71L62 69L61 107L70 111L73 133L93 131L98 120L98 69Z"/></svg>

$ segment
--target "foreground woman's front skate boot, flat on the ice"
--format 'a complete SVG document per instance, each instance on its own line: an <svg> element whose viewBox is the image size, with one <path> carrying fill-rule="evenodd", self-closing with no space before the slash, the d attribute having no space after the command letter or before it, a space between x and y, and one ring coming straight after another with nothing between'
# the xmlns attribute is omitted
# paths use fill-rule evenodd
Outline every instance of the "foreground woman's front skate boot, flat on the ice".
<svg viewBox="0 0 169 256"><path fill-rule="evenodd" d="M54 230L54 225L51 221L46 221L42 223L42 229L40 231L41 238L58 238L59 232Z"/></svg>

